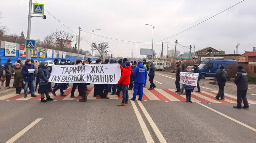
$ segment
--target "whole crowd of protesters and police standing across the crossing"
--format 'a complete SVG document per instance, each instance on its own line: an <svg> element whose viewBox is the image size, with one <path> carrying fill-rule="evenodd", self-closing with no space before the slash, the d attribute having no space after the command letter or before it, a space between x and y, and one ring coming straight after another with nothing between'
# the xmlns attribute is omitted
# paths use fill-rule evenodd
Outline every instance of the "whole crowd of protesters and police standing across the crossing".
<svg viewBox="0 0 256 143"><path fill-rule="evenodd" d="M55 65L74 65L74 64L91 64L91 59L88 58L87 60L77 60L76 62L72 62L70 60L61 59L59 62L58 59L54 60ZM146 60L141 61L131 61L129 62L127 58L124 58L123 60L113 60L113 59L105 59L104 62L101 59L97 59L96 64L114 64L119 63L120 69L121 69L121 77L118 81L118 84L94 84L94 93L93 97L100 97L102 99L109 99L107 96L108 93L111 93L110 95L117 95L120 97L120 93L122 91L123 99L118 106L124 106L125 104L128 104L129 99L129 93L128 90L134 90L133 96L131 100L135 101L136 96L139 95L138 100L142 100L143 96L143 87L146 86L147 82L147 76L149 76L149 82L150 82L150 88L149 90L152 90L156 88L156 85L154 84L154 76L155 76L155 66L153 64L153 61L149 61L148 63ZM51 93L53 96L56 95L56 90L60 89L60 96L67 96L64 93L64 90L70 86L68 83L56 83L51 90L51 83L49 82L50 73L51 70L47 67L47 64L45 61L41 61L40 65L37 60L27 59L25 64L21 63L21 59L17 59L15 66L12 67L12 59L8 59L7 62L4 65L5 67L5 88L10 89L12 88L10 86L10 80L11 76L14 76L14 83L13 88L16 89L16 94L21 94L21 88L24 88L24 98L27 97L28 94L31 94L31 97L36 97L34 94L37 85L39 84L38 94L41 94L41 102L47 102L49 100L53 100L50 98L49 93ZM236 74L235 83L237 85L237 106L234 106L234 108L242 108L242 100L244 102L243 108L249 108L249 104L246 98L246 92L248 89L248 78L247 73L243 69L242 66L237 67L238 73ZM182 84L180 87L180 72L188 72L188 73L200 73L200 70L197 65L194 65L194 70L191 69L190 66L185 66L184 64L180 64L179 62L176 63L176 81L175 85L177 90L175 93L178 95L186 95L186 102L191 101L191 93L194 91L194 88L197 87L196 92L200 93L200 85L198 77L197 86ZM1 58L0 58L0 77L3 76L3 69L1 65ZM199 75L198 75L199 76ZM219 85L219 92L216 95L217 100L225 100L224 96L224 87L226 84L226 78L227 78L227 72L224 69L224 66L220 66L220 69L216 72L216 78ZM78 88L79 96L82 97L82 99L79 100L79 102L85 102L87 101L86 94L87 91L87 85L89 83L73 83L73 87L71 90L71 96L70 98L76 98L74 93L76 88ZM0 87L1 89L1 87ZM30 91L28 91L28 89ZM112 91L111 91L112 89ZM183 91L185 90L185 93ZM44 95L46 96L46 100L44 98Z"/></svg>

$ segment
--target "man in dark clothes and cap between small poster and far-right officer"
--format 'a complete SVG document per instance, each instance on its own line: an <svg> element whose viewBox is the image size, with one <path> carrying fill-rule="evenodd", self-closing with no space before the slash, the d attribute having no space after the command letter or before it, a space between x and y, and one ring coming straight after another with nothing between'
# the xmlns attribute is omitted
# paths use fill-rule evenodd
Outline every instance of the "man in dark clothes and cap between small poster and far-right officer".
<svg viewBox="0 0 256 143"><path fill-rule="evenodd" d="M216 78L218 81L219 85L219 92L216 95L216 99L220 100L219 98L221 97L221 100L224 100L224 87L226 85L226 74L224 72L224 66L221 66L219 70L216 72Z"/></svg>

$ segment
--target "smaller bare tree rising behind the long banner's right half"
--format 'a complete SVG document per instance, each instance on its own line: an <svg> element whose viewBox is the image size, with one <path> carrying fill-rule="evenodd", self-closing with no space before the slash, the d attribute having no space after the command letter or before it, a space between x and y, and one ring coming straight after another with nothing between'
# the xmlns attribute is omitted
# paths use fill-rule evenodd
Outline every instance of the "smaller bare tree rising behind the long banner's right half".
<svg viewBox="0 0 256 143"><path fill-rule="evenodd" d="M109 51L107 50L107 48L109 48L108 46L108 42L99 42L98 45L96 45L95 43L92 43L92 47L93 50L96 50L99 54L99 57L101 59L103 59L104 55L106 55Z"/></svg>

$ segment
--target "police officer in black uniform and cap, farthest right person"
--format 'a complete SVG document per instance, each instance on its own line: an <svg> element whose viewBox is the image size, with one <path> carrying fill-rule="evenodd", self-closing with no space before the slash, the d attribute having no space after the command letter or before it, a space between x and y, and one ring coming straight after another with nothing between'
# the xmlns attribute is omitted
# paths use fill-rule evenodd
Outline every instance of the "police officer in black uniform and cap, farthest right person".
<svg viewBox="0 0 256 143"><path fill-rule="evenodd" d="M248 76L246 71L243 69L243 66L238 66L237 70L238 72L235 78L235 83L237 85L237 106L233 107L241 109L243 100L243 108L249 109L249 103L246 98L246 93L248 89Z"/></svg>

